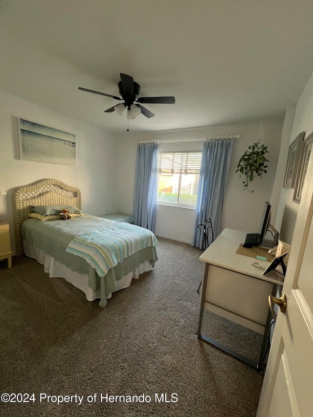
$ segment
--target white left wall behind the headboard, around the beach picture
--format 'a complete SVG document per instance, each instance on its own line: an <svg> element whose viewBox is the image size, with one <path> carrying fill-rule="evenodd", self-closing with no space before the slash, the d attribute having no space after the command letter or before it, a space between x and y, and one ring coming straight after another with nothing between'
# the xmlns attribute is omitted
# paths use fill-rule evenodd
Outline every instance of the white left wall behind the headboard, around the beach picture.
<svg viewBox="0 0 313 417"><path fill-rule="evenodd" d="M21 117L76 135L76 166L20 159L17 118ZM15 252L12 194L16 187L43 178L60 179L82 191L82 208L89 214L116 211L116 136L60 113L0 92L0 219L10 224Z"/></svg>

